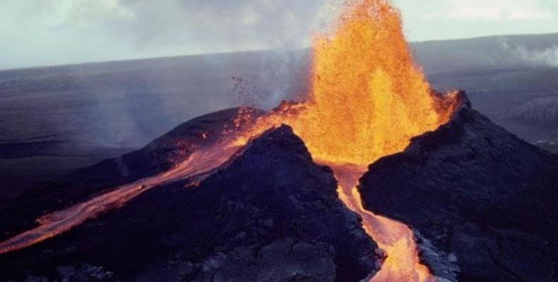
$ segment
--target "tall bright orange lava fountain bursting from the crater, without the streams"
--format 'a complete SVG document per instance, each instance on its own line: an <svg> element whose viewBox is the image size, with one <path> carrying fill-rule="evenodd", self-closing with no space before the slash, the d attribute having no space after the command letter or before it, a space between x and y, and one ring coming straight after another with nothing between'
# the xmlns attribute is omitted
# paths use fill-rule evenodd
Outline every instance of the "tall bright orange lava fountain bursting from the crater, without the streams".
<svg viewBox="0 0 558 282"><path fill-rule="evenodd" d="M367 165L449 120L451 95L430 90L389 1L353 3L333 30L314 39L307 102L283 104L239 142L287 123L314 159Z"/></svg>

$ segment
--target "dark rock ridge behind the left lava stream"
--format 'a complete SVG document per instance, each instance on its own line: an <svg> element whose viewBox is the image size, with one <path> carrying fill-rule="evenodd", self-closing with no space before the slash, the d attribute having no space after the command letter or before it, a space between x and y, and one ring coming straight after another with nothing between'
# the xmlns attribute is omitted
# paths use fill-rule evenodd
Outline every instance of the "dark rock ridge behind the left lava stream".
<svg viewBox="0 0 558 282"><path fill-rule="evenodd" d="M225 130L236 128L239 111L257 118L263 111L235 108L194 118L162 135L146 147L115 159L101 161L29 190L16 200L0 202L0 240L35 226L43 214L83 202L92 195L134 180L167 171L196 149L213 145ZM248 116L239 129L249 123Z"/></svg>

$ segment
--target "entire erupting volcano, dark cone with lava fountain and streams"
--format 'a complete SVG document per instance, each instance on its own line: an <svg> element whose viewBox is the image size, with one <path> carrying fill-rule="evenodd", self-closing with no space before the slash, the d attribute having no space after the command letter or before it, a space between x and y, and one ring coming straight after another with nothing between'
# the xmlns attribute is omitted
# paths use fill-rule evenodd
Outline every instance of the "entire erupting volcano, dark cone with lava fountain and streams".
<svg viewBox="0 0 558 282"><path fill-rule="evenodd" d="M302 102L196 118L1 204L0 277L556 280L557 157L432 90L389 1L349 3Z"/></svg>

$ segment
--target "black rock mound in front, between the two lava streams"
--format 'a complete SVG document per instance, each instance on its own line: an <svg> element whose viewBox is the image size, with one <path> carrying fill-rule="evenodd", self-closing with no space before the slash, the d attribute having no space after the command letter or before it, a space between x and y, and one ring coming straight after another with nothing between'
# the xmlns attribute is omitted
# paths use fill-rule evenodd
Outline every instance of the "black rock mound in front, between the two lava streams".
<svg viewBox="0 0 558 282"><path fill-rule="evenodd" d="M381 256L336 186L283 126L197 186L183 180L148 190L1 256L0 280L28 270L70 281L360 281Z"/></svg>

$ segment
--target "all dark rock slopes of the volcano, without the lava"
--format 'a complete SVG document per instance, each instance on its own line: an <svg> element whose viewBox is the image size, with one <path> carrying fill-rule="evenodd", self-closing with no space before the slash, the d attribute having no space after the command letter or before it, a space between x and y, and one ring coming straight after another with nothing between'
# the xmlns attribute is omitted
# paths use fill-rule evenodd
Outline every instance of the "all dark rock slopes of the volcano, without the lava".
<svg viewBox="0 0 558 282"><path fill-rule="evenodd" d="M364 207L412 228L420 263L437 281L556 281L558 157L494 125L459 96L449 123L367 168L358 185ZM141 150L50 183L55 193L35 190L4 204L4 240L36 226L36 218L60 203L95 199L107 186L165 173L219 142L227 132L220 129L244 129L261 116L242 108L196 118ZM292 128L280 125L211 171L162 183L66 233L1 255L0 277L374 278L389 252L365 232L367 215L340 200L339 172L316 164ZM32 206L20 213L26 204Z"/></svg>

